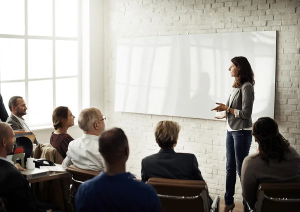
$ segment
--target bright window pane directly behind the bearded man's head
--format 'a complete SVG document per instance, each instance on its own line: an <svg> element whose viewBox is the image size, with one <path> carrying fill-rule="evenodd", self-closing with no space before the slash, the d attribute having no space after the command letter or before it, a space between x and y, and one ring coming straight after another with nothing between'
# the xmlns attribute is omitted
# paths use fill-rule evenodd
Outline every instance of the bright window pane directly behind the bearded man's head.
<svg viewBox="0 0 300 212"><path fill-rule="evenodd" d="M5 105L6 111L8 115L10 114L10 110L8 107L9 99L14 95L22 96L24 99L25 96L25 82L6 82L0 84L0 92L3 97L3 103ZM25 118L25 116L23 116ZM26 118L25 118L26 119Z"/></svg>

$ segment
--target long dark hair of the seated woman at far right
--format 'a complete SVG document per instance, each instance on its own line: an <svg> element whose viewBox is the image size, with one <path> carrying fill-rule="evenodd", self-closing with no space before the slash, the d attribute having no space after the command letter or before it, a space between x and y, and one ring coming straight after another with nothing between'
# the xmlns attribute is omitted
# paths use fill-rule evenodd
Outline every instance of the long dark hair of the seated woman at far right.
<svg viewBox="0 0 300 212"><path fill-rule="evenodd" d="M267 163L270 159L285 160L289 142L279 133L277 123L270 117L261 117L253 124L252 135L258 143L259 155Z"/></svg>

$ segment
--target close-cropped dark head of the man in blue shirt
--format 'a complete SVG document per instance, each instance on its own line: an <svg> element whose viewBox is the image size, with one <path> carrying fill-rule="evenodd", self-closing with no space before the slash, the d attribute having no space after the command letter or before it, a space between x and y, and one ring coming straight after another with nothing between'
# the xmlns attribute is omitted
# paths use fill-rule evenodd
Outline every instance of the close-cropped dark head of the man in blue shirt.
<svg viewBox="0 0 300 212"><path fill-rule="evenodd" d="M104 131L99 137L99 152L107 163L113 164L124 156L128 140L120 128Z"/></svg>

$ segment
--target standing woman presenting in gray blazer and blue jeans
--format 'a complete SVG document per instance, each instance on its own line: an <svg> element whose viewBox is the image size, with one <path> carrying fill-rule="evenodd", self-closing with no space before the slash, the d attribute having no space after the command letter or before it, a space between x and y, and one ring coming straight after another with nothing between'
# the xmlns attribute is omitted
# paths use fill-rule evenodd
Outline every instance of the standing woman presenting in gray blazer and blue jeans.
<svg viewBox="0 0 300 212"><path fill-rule="evenodd" d="M223 212L233 210L235 207L233 195L235 190L236 170L241 178L241 164L248 155L252 140L252 106L254 101L254 74L246 57L236 56L231 59L228 69L233 76L233 90L226 105L216 103L218 106L211 110L225 111L215 118L227 118L226 128L226 192Z"/></svg>

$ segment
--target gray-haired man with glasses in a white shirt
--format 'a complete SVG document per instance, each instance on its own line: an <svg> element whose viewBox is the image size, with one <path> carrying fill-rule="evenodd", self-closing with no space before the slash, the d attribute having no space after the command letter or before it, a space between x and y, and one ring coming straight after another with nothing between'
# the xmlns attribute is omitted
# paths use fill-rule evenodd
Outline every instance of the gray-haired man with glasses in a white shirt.
<svg viewBox="0 0 300 212"><path fill-rule="evenodd" d="M98 140L100 133L105 128L105 117L96 107L83 109L79 113L78 125L83 130L83 135L68 144L66 157L62 168L74 164L85 170L102 170L104 168Z"/></svg>

